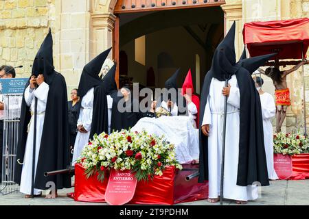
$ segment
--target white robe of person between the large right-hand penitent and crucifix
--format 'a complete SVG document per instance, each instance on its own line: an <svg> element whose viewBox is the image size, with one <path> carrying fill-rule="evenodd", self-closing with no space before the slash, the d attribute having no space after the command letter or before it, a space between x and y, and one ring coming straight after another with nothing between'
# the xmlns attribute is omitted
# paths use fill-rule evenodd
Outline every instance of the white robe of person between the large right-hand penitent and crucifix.
<svg viewBox="0 0 309 219"><path fill-rule="evenodd" d="M267 171L269 179L278 179L277 173L273 166L273 125L271 120L275 116L275 101L271 94L265 93L260 95L264 129L264 145L267 161Z"/></svg>

